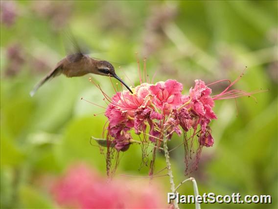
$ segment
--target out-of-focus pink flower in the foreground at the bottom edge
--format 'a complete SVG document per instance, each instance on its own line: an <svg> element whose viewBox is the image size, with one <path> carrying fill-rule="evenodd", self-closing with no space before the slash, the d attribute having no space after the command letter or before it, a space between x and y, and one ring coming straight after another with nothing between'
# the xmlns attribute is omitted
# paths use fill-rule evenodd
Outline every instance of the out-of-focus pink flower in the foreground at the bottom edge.
<svg viewBox="0 0 278 209"><path fill-rule="evenodd" d="M59 178L52 194L60 207L79 209L165 208L158 188L144 183L112 180L88 166L73 165Z"/></svg>

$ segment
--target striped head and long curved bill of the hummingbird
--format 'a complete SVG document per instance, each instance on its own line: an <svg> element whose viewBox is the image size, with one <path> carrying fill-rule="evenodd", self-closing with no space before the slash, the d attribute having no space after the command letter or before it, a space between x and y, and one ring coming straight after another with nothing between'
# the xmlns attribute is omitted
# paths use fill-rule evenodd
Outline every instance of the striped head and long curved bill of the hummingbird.
<svg viewBox="0 0 278 209"><path fill-rule="evenodd" d="M133 92L128 87L128 85L125 84L125 82L123 82L123 80L116 75L114 66L110 62L107 62L107 61L104 61L104 60L98 61L96 63L96 70L97 70L97 74L99 74L99 75L111 76L111 77L116 78L133 94Z"/></svg>

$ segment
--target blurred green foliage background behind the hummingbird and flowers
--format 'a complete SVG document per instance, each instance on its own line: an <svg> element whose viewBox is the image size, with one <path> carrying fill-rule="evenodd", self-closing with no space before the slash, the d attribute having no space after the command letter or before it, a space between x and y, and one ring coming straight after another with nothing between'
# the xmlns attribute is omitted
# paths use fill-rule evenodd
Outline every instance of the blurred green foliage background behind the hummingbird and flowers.
<svg viewBox="0 0 278 209"><path fill-rule="evenodd" d="M93 56L111 61L136 84L135 52L147 57L155 81L177 79L184 92L195 79L235 79L236 88L269 89L252 98L216 101L215 144L204 148L195 177L199 192L272 195L271 205L202 204L202 208L278 208L277 1L1 1L1 208L55 208L47 180L85 161L105 176L105 158L91 146L101 137L105 105L100 91L80 78L57 77L31 98L29 91L66 55L70 28ZM121 66L121 70L117 67ZM108 95L110 80L92 76ZM213 86L214 94L226 84ZM181 143L174 136L169 147ZM183 149L171 153L176 183L185 179ZM141 149L125 152L116 174L143 175ZM156 169L163 168L158 154ZM50 180L49 180L50 181ZM169 190L168 178L159 179ZM191 183L179 189L192 194ZM166 201L166 199L165 199ZM194 208L193 205L180 205Z"/></svg>

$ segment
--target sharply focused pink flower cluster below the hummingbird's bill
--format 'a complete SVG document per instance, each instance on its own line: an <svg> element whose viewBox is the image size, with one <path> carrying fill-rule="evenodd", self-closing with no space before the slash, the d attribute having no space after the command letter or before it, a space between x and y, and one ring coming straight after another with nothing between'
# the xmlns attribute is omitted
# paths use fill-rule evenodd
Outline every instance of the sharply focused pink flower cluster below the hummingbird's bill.
<svg viewBox="0 0 278 209"><path fill-rule="evenodd" d="M213 138L209 123L216 119L212 108L211 89L202 80L195 80L189 95L183 95L183 85L168 79L156 84L142 83L129 91L117 92L106 109L108 134L114 138L117 151L126 151L131 144L131 130L146 134L152 142L162 140L163 134L193 130L199 131L199 145L211 147Z"/></svg>

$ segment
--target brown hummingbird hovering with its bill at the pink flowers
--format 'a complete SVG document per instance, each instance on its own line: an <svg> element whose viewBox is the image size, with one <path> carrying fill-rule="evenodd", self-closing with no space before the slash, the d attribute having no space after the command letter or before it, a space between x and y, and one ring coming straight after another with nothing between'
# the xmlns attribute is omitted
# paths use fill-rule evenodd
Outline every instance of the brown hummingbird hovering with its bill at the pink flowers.
<svg viewBox="0 0 278 209"><path fill-rule="evenodd" d="M84 54L80 51L80 48L75 42L75 48L77 49L76 53L66 56L61 61L59 61L56 67L43 78L30 92L31 97L34 96L36 91L50 78L54 78L61 74L64 74L67 77L80 77L89 73L114 77L119 80L131 93L131 89L128 87L125 82L116 75L113 65L105 60L98 60L90 57L87 54Z"/></svg>

